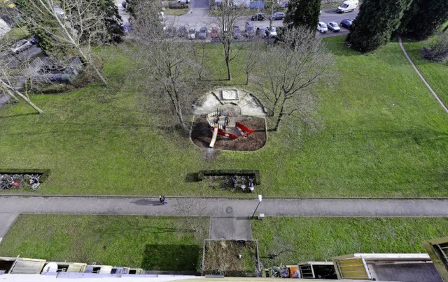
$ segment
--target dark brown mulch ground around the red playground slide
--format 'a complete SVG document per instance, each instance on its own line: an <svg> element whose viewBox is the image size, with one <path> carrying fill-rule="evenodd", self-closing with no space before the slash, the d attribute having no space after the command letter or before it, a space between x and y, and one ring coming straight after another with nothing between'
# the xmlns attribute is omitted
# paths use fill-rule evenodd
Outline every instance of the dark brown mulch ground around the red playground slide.
<svg viewBox="0 0 448 282"><path fill-rule="evenodd" d="M241 117L238 120L255 132L246 137L236 140L219 138L216 140L214 149L227 151L256 151L265 146L266 143L266 120L262 117ZM213 133L205 117L196 116L191 131L191 140L197 147L209 148Z"/></svg>

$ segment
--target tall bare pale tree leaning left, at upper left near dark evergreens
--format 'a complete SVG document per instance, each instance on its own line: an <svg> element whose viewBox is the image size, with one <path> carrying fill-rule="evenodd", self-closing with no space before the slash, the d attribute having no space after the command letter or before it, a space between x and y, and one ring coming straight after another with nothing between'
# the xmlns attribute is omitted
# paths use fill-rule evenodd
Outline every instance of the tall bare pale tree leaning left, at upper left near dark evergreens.
<svg viewBox="0 0 448 282"><path fill-rule="evenodd" d="M31 27L45 31L55 45L76 50L87 66L106 85L106 79L93 64L92 45L104 43L108 36L106 13L95 8L90 0L28 0L26 8L18 8ZM60 5L60 6L59 6Z"/></svg>

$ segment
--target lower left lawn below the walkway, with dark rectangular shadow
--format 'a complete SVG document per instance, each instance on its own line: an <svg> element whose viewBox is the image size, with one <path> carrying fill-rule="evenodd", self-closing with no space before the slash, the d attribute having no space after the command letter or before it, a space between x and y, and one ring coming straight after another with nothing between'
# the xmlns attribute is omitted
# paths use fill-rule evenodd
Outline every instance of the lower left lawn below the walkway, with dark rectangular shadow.
<svg viewBox="0 0 448 282"><path fill-rule="evenodd" d="M3 238L0 256L197 272L205 237L176 228L181 220L167 216L22 214ZM202 219L201 226L208 230L209 220Z"/></svg>

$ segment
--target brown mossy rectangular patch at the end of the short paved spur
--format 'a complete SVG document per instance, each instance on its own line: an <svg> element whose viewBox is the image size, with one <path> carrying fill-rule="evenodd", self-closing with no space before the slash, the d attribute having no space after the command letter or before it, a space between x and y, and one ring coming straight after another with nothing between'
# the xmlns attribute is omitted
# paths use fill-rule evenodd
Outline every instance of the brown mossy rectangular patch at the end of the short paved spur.
<svg viewBox="0 0 448 282"><path fill-rule="evenodd" d="M206 240L204 244L203 275L258 276L256 241Z"/></svg>

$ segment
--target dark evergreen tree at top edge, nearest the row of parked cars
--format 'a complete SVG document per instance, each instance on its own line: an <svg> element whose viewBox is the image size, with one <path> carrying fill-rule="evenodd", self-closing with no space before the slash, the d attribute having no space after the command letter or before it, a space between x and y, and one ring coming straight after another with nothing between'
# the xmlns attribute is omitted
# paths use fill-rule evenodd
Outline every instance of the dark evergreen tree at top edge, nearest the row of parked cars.
<svg viewBox="0 0 448 282"><path fill-rule="evenodd" d="M316 29L320 10L321 0L291 0L284 22L290 27L304 26Z"/></svg>

